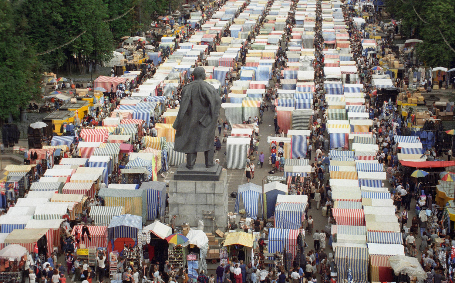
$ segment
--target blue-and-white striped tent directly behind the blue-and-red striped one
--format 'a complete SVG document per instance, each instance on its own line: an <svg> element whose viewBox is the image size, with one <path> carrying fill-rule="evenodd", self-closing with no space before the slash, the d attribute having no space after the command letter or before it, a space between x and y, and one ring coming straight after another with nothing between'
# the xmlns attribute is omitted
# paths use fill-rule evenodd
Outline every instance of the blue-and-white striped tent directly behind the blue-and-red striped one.
<svg viewBox="0 0 455 283"><path fill-rule="evenodd" d="M299 229L304 221L304 203L277 202L275 207L275 227Z"/></svg>

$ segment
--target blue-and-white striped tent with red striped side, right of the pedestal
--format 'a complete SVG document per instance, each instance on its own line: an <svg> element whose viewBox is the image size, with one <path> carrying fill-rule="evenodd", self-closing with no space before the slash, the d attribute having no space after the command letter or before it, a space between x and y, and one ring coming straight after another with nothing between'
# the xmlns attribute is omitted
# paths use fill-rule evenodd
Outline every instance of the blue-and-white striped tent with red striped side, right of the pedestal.
<svg viewBox="0 0 455 283"><path fill-rule="evenodd" d="M299 238L299 235L301 236ZM297 229L269 228L268 252L291 252L293 257L298 255L304 239L304 231ZM300 240L300 242L299 242Z"/></svg>

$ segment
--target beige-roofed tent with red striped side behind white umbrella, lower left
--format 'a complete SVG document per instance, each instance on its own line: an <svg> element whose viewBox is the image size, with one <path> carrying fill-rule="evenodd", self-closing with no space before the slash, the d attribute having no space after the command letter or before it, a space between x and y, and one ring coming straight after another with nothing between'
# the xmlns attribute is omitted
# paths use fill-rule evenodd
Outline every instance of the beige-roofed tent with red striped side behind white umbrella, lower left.
<svg viewBox="0 0 455 283"><path fill-rule="evenodd" d="M47 256L51 256L54 242L54 231L52 229L14 229L5 238L5 244L18 244L25 247L29 252L33 252L35 249L35 242L38 242L43 236L46 236L47 238Z"/></svg>

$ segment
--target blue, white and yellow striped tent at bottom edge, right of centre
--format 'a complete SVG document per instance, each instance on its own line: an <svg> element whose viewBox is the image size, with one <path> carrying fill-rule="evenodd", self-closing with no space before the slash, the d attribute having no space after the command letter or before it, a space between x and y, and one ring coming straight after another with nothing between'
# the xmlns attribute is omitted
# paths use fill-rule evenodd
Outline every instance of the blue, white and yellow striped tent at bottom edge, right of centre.
<svg viewBox="0 0 455 283"><path fill-rule="evenodd" d="M338 267L338 280L349 280L348 269L350 268L352 282L368 282L368 248L339 246L335 248L334 252L334 262Z"/></svg>

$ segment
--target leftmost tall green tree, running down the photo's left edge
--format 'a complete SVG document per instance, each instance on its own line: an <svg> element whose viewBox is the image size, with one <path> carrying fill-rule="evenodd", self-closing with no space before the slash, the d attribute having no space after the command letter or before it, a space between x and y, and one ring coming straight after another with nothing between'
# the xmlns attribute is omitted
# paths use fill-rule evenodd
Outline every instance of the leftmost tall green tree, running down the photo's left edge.
<svg viewBox="0 0 455 283"><path fill-rule="evenodd" d="M12 1L0 1L0 118L17 114L40 95L40 68L25 33L23 16Z"/></svg>

